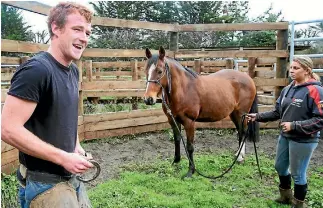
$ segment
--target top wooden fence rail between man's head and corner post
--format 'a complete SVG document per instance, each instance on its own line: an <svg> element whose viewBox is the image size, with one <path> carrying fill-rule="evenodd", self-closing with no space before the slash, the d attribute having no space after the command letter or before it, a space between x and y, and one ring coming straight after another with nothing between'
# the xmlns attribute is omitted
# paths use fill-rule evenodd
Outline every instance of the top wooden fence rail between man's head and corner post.
<svg viewBox="0 0 323 208"><path fill-rule="evenodd" d="M148 30L162 30L162 31L176 31L174 24L144 22L135 20L113 19L107 17L93 17L93 25L101 25L107 27L122 27L134 29L148 29Z"/></svg>

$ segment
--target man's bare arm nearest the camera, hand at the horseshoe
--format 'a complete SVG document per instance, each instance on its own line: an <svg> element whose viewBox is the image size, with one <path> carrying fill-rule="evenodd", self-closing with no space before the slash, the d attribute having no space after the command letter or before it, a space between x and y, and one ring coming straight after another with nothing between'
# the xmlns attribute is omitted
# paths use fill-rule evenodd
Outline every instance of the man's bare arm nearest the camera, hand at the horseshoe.
<svg viewBox="0 0 323 208"><path fill-rule="evenodd" d="M28 155L61 165L72 173L83 172L92 167L81 156L67 153L42 141L24 127L36 106L36 102L8 95L1 118L2 140Z"/></svg>

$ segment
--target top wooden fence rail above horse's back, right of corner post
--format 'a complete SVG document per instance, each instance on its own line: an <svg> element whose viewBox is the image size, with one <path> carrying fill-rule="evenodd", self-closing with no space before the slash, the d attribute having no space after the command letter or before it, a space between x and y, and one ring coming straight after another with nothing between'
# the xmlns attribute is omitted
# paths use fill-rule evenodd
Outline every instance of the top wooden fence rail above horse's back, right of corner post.
<svg viewBox="0 0 323 208"><path fill-rule="evenodd" d="M186 24L179 25L177 31L246 31L246 30L288 30L288 22L229 23L229 24Z"/></svg>

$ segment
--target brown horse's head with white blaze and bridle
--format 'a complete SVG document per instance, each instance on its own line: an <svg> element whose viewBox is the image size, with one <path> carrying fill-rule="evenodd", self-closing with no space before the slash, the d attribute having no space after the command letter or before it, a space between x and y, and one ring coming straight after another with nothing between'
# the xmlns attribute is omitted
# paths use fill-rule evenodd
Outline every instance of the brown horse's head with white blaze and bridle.
<svg viewBox="0 0 323 208"><path fill-rule="evenodd" d="M159 55L152 55L150 50L146 49L146 57L148 58L145 66L146 70L146 92L144 101L147 105L154 105L157 97L162 93L162 88L166 89L168 84L169 69L165 61L165 49L159 48Z"/></svg>

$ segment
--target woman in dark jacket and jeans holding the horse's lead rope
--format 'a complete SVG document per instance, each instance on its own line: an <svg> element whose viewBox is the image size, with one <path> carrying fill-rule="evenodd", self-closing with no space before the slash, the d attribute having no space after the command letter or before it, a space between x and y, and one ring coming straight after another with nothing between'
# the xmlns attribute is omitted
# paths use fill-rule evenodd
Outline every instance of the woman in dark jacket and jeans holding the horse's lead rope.
<svg viewBox="0 0 323 208"><path fill-rule="evenodd" d="M248 121L281 119L275 161L280 197L275 201L292 204L292 208L305 206L306 171L323 128L323 88L320 77L312 72L312 68L309 57L295 57L289 71L293 81L282 90L275 109L247 115ZM291 178L294 180L294 197Z"/></svg>

